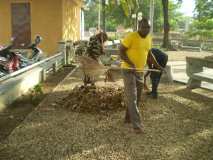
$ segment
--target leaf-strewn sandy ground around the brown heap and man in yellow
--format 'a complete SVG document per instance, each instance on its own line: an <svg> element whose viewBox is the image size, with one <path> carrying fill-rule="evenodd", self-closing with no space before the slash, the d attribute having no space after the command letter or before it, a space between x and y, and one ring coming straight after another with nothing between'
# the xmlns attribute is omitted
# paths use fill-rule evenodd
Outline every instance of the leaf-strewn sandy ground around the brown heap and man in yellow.
<svg viewBox="0 0 213 160"><path fill-rule="evenodd" d="M171 53L173 54L173 53ZM176 58L177 59L177 58ZM180 58L183 59L183 58ZM60 107L76 85L68 75L0 145L10 160L210 160L213 155L213 93L161 83L158 100L143 95L145 133L125 125L125 110L109 115ZM98 86L122 86L122 80Z"/></svg>

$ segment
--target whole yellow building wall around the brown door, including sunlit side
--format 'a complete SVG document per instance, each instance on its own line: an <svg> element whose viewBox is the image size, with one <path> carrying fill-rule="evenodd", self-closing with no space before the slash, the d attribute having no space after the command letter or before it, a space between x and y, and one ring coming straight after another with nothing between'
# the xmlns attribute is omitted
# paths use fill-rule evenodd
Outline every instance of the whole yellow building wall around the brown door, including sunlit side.
<svg viewBox="0 0 213 160"><path fill-rule="evenodd" d="M31 38L43 37L40 48L50 54L58 49L61 40L80 38L81 0L0 0L0 44L7 44L11 37L12 2L30 2ZM63 9L63 11L62 11Z"/></svg>

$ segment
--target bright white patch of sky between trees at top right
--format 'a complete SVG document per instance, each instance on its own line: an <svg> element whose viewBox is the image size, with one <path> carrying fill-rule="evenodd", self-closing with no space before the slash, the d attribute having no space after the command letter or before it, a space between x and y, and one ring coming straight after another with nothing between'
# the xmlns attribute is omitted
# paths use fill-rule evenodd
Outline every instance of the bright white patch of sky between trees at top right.
<svg viewBox="0 0 213 160"><path fill-rule="evenodd" d="M195 8L195 0L183 0L180 11L186 16L193 16L193 11Z"/></svg>

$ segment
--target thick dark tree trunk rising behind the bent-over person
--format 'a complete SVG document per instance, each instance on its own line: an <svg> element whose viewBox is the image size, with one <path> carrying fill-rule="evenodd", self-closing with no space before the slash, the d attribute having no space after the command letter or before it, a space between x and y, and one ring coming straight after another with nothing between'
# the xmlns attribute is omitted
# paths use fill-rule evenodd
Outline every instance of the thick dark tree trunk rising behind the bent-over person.
<svg viewBox="0 0 213 160"><path fill-rule="evenodd" d="M164 16L164 36L163 36L163 48L170 48L169 42L169 1L162 0L163 16Z"/></svg>

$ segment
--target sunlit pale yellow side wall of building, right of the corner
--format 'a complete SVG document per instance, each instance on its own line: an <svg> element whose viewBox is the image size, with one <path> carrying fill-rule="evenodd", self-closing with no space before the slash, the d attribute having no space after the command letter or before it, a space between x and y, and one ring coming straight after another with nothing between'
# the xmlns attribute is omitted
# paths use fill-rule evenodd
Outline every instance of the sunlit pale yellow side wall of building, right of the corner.
<svg viewBox="0 0 213 160"><path fill-rule="evenodd" d="M80 39L80 6L81 0L62 0L63 40Z"/></svg>

